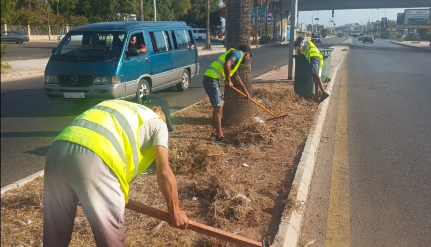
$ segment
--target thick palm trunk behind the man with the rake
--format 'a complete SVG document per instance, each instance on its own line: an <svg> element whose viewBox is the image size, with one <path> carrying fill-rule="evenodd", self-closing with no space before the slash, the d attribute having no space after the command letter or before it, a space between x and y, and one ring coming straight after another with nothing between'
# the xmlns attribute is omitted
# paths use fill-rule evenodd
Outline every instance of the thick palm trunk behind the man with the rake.
<svg viewBox="0 0 431 247"><path fill-rule="evenodd" d="M250 44L251 0L229 0L226 2L226 48L238 48ZM251 59L250 59L251 60ZM239 66L238 74L251 96L251 61ZM223 83L223 82L221 82ZM235 81L233 86L242 90ZM253 105L237 92L224 87L223 126L238 125L253 114Z"/></svg>

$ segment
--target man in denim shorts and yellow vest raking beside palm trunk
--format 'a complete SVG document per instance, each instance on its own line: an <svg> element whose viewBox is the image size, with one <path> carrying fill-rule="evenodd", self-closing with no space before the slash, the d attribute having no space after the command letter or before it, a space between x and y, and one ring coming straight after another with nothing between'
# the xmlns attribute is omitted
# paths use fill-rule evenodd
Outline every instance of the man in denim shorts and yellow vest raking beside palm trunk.
<svg viewBox="0 0 431 247"><path fill-rule="evenodd" d="M242 83L237 69L241 62L248 61L252 56L253 54L249 45L239 45L238 49L232 48L221 54L205 71L202 83L210 99L211 106L213 106L213 131L211 132L210 139L219 144L232 143L224 136L221 130L221 113L224 101L220 93L220 81L224 80L224 84L231 88L233 87L233 79L242 88L247 99L249 99L250 95Z"/></svg>

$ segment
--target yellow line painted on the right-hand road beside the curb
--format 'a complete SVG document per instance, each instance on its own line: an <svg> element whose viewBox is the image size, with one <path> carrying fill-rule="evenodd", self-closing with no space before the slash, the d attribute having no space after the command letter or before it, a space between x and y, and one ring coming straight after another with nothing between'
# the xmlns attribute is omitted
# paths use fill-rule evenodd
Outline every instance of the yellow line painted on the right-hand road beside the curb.
<svg viewBox="0 0 431 247"><path fill-rule="evenodd" d="M341 73L340 73L341 72ZM340 100L332 159L325 247L350 247L349 155L347 150L347 70L340 73Z"/></svg>

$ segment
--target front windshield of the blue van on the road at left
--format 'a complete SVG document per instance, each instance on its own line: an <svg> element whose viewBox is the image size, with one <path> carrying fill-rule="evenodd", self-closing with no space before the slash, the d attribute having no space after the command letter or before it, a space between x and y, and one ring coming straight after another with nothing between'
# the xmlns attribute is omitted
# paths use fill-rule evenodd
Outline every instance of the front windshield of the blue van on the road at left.
<svg viewBox="0 0 431 247"><path fill-rule="evenodd" d="M107 61L120 57L125 32L81 31L69 32L51 56L57 61Z"/></svg>

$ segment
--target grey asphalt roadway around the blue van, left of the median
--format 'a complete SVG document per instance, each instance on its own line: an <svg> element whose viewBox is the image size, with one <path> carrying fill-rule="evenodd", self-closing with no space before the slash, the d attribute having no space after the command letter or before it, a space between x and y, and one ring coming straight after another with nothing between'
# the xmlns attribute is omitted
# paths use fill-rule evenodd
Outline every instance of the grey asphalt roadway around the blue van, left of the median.
<svg viewBox="0 0 431 247"><path fill-rule="evenodd" d="M343 40L329 39L325 47ZM203 42L199 41L198 46ZM7 55L9 60L47 58L56 45L55 42L10 44ZM288 52L288 44L253 48L251 78L286 65ZM192 79L186 92L179 92L175 87L158 92L169 101L171 112L207 97L202 77L206 67L217 56L199 56L200 76ZM43 170L44 155L53 138L85 110L85 107L72 102L49 100L43 94L43 82L40 76L1 83L1 187Z"/></svg>

